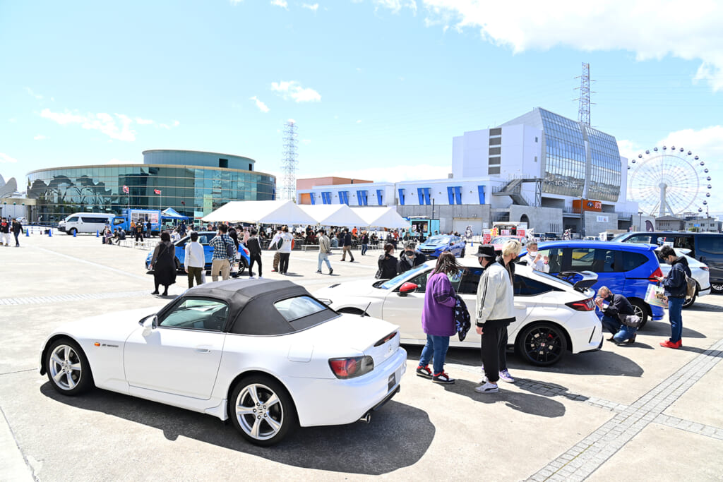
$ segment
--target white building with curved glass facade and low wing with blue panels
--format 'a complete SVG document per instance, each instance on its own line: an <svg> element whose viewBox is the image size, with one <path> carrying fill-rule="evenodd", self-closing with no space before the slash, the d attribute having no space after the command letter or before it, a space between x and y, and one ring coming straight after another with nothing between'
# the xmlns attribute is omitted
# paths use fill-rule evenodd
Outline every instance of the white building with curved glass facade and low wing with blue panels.
<svg viewBox="0 0 723 482"><path fill-rule="evenodd" d="M492 129L453 137L449 178L316 186L313 203L395 205L406 217L440 219L442 231L479 233L493 221L527 221L537 232L627 229L627 159L615 137L542 108ZM581 208L583 206L583 218Z"/></svg>

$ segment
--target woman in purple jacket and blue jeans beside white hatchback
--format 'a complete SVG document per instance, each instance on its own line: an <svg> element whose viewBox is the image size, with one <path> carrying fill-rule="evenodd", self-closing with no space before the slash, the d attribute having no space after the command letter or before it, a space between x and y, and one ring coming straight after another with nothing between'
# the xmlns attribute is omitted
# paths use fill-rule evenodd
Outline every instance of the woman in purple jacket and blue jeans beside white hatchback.
<svg viewBox="0 0 723 482"><path fill-rule="evenodd" d="M454 306L456 293L449 276L459 274L460 265L450 252L442 253L437 266L427 280L422 310L422 330L427 333L427 345L424 345L416 374L431 378L435 383L454 383L454 379L445 373L445 357L450 346L450 336L455 335ZM429 370L429 359L432 368Z"/></svg>

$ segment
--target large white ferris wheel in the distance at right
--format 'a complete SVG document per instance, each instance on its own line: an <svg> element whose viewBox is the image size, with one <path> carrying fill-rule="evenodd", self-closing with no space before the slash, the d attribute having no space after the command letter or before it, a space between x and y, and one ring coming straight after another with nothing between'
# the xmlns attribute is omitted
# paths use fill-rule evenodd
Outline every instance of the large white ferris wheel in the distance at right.
<svg viewBox="0 0 723 482"><path fill-rule="evenodd" d="M707 210L711 176L693 152L675 146L654 147L628 165L628 199L651 216Z"/></svg>

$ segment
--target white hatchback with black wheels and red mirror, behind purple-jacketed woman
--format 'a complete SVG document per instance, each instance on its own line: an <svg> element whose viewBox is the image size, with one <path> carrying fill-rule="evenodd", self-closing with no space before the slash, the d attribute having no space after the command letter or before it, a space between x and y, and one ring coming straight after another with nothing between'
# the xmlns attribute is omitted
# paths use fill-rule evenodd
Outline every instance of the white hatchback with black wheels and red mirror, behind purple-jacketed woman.
<svg viewBox="0 0 723 482"><path fill-rule="evenodd" d="M474 325L482 267L476 258L458 262L466 269L453 280L453 287L467 305ZM424 289L434 267L435 262L427 262L391 280L338 283L314 294L342 313L368 314L398 324L402 343L424 345ZM576 275L578 281L573 285L526 266L515 267L516 321L508 327L509 343L529 363L552 365L567 351L581 353L602 346L602 326L594 311L594 291L589 288L597 275L584 272L582 279L580 273ZM450 345L479 349L480 336L473 327L463 342L453 337Z"/></svg>

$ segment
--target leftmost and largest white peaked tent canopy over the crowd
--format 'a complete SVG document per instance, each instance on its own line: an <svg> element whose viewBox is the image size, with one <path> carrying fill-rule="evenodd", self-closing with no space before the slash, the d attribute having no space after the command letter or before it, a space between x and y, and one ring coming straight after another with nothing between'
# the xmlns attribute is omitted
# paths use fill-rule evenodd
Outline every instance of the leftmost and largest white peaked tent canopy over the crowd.
<svg viewBox="0 0 723 482"><path fill-rule="evenodd" d="M232 201L210 212L202 220L208 223L316 224L314 218L295 202Z"/></svg>

